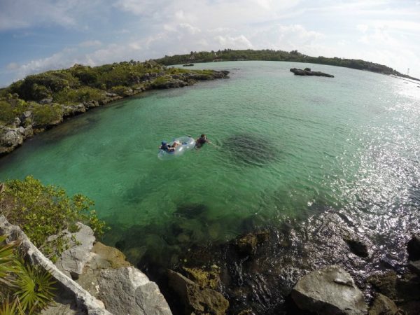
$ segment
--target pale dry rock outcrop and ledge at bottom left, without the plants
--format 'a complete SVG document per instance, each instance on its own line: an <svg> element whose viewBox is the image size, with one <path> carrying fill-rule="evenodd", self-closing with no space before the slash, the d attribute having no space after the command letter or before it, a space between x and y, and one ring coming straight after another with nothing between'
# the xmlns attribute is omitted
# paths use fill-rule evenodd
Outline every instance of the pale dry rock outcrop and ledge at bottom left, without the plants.
<svg viewBox="0 0 420 315"><path fill-rule="evenodd" d="M42 314L172 314L156 283L118 249L95 241L91 228L78 225L78 232L66 232L72 246L54 265L18 226L0 216L0 235L8 235L8 242L20 240L25 260L50 272L57 282L56 304Z"/></svg>

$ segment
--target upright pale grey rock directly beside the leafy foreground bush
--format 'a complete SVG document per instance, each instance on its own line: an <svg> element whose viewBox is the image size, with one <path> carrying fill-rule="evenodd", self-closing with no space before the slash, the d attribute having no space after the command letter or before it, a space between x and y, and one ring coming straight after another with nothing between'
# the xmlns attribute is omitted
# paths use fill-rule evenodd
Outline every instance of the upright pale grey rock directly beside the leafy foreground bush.
<svg viewBox="0 0 420 315"><path fill-rule="evenodd" d="M83 267L91 258L90 251L95 240L93 230L90 227L82 223L77 224L80 228L78 232L66 232L66 236L73 243L73 246L64 251L55 263L64 274L70 275L73 279L77 279L83 273ZM76 239L76 244L71 240L72 235Z"/></svg>

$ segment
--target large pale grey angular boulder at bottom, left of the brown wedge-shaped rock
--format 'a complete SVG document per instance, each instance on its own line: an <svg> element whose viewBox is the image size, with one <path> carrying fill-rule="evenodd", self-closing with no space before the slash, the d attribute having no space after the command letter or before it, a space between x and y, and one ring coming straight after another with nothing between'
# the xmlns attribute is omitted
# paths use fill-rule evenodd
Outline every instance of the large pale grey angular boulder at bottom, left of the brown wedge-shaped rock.
<svg viewBox="0 0 420 315"><path fill-rule="evenodd" d="M156 283L134 267L102 271L99 291L106 309L113 314L172 314Z"/></svg>

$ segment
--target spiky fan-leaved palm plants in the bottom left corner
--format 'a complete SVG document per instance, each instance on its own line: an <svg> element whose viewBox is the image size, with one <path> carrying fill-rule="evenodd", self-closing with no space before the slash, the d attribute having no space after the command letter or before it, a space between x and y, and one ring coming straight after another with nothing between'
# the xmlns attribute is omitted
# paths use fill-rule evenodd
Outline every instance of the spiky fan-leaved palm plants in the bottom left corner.
<svg viewBox="0 0 420 315"><path fill-rule="evenodd" d="M55 282L45 270L23 262L18 243L5 239L0 236L0 314L38 314L52 303Z"/></svg>

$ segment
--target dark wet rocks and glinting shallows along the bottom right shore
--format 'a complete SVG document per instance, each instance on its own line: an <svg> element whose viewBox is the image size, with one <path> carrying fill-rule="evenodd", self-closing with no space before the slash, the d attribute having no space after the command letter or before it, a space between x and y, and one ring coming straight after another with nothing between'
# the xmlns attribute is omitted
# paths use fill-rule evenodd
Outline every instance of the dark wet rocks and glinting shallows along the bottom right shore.
<svg viewBox="0 0 420 315"><path fill-rule="evenodd" d="M420 238L412 233L419 232L417 221L400 239L374 244L372 235L326 212L193 246L174 270L139 267L174 314L418 314Z"/></svg>

